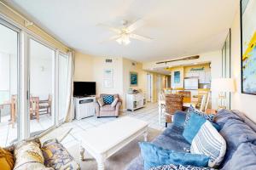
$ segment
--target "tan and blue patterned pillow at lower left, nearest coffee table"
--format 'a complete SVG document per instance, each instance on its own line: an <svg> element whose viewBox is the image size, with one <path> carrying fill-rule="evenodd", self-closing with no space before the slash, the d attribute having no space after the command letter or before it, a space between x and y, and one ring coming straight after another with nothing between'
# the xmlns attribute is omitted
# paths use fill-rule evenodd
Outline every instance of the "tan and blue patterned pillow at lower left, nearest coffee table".
<svg viewBox="0 0 256 170"><path fill-rule="evenodd" d="M73 156L56 139L49 139L44 142L42 151L44 164L47 167L52 167L55 170L80 169L79 164L74 161Z"/></svg>

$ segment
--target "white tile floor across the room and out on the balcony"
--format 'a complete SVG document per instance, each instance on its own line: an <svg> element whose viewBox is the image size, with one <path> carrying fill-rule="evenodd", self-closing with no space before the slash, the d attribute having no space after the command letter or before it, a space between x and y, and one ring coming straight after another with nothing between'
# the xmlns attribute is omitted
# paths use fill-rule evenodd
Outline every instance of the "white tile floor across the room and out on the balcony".
<svg viewBox="0 0 256 170"><path fill-rule="evenodd" d="M164 130L165 125L159 123L158 119L158 108L156 104L148 104L143 109L139 109L137 111L125 111L121 116L132 116L137 119L141 119L143 121L149 122L149 127ZM17 126L12 128L11 125L8 123L9 117L3 117L2 123L0 123L0 146L9 145L9 142L14 140L17 136ZM4 119L7 119L4 121ZM82 120L74 120L73 122L64 123L61 125L61 128L72 127L73 130L71 133L67 135L67 137L61 142L67 148L71 145L78 144L79 141L74 137L75 133L80 133L90 129L91 127L97 127L102 125L102 123L111 122L115 120L115 117L106 117L106 118L96 118L96 116L91 116L88 118L84 118ZM5 123L4 123L5 122ZM31 120L31 129L32 132L43 130L51 126L51 116L43 115L40 116L40 121L37 122L36 120Z"/></svg>

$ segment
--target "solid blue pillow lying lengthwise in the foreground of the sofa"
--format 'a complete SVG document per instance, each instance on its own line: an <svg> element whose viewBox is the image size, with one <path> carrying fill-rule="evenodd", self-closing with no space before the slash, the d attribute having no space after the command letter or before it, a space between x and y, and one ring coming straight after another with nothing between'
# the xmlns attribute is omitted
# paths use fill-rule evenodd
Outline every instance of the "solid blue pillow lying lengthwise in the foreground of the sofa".
<svg viewBox="0 0 256 170"><path fill-rule="evenodd" d="M147 142L139 143L139 145L145 170L169 164L193 165L196 167L207 167L208 165L208 156L165 150Z"/></svg>

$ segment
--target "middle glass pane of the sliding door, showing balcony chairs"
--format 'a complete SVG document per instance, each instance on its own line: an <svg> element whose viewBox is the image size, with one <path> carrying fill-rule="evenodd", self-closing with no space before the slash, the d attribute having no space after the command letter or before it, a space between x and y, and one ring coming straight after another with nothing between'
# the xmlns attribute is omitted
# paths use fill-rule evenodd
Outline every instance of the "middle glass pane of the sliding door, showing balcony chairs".
<svg viewBox="0 0 256 170"><path fill-rule="evenodd" d="M54 125L55 51L29 39L30 133Z"/></svg>

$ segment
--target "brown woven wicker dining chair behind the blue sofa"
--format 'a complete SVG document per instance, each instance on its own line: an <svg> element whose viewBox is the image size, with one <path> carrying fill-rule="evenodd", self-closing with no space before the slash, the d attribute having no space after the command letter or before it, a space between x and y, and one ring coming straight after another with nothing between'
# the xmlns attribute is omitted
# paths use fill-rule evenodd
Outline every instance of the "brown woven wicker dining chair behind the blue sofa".
<svg viewBox="0 0 256 170"><path fill-rule="evenodd" d="M183 111L183 95L167 94L166 95L166 127L172 122L172 116L175 111Z"/></svg>

